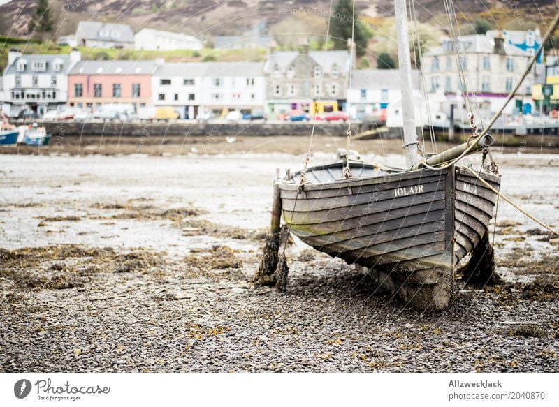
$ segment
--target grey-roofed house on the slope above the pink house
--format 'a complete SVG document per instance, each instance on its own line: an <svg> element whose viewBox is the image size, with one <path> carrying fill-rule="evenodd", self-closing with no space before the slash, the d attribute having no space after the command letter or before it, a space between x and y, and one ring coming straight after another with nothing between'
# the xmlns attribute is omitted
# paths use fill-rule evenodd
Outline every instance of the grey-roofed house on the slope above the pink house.
<svg viewBox="0 0 559 407"><path fill-rule="evenodd" d="M73 40L80 47L126 49L134 47L134 33L127 24L80 21Z"/></svg>

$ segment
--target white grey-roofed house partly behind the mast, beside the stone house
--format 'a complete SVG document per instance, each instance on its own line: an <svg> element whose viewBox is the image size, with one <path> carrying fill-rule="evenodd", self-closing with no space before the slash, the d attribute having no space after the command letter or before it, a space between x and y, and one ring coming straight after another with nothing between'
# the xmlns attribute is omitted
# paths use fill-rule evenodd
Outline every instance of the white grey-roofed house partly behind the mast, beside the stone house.
<svg viewBox="0 0 559 407"><path fill-rule="evenodd" d="M412 71L414 93L419 93L419 71ZM399 102L400 74L396 69L361 69L353 71L347 90L347 111L351 119L379 119L390 104Z"/></svg>

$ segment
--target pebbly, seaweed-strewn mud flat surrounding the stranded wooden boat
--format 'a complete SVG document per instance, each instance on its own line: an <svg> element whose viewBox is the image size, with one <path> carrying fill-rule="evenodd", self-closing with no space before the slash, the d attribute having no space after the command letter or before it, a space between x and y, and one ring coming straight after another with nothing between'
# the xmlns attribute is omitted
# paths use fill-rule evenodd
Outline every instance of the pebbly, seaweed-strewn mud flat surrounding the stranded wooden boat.
<svg viewBox="0 0 559 407"><path fill-rule="evenodd" d="M558 241L502 201L504 283L457 281L443 313L298 241L287 292L252 288L275 168L306 145L243 143L3 155L0 371L559 371ZM396 147L368 158L398 165ZM495 158L502 192L557 227L559 155Z"/></svg>

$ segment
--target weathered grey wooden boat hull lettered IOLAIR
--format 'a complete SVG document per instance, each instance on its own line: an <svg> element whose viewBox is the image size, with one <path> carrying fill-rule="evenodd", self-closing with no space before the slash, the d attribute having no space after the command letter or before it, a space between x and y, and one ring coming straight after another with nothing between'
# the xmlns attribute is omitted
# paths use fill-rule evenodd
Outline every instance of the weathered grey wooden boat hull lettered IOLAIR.
<svg viewBox="0 0 559 407"><path fill-rule="evenodd" d="M459 168L386 173L363 166L345 180L341 167L310 169L303 191L297 177L280 184L291 232L314 249L390 276L407 300L418 296L414 285L449 297L456 263L487 231L495 193ZM498 188L498 177L483 177ZM446 308L441 298L427 308Z"/></svg>

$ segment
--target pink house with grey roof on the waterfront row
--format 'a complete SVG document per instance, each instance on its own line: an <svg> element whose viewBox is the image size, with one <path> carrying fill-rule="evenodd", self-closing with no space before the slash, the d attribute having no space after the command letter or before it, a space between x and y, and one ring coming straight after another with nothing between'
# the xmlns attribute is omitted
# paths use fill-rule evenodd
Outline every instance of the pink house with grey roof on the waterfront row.
<svg viewBox="0 0 559 407"><path fill-rule="evenodd" d="M68 73L68 105L94 112L106 103L149 105L159 61L81 61Z"/></svg>

